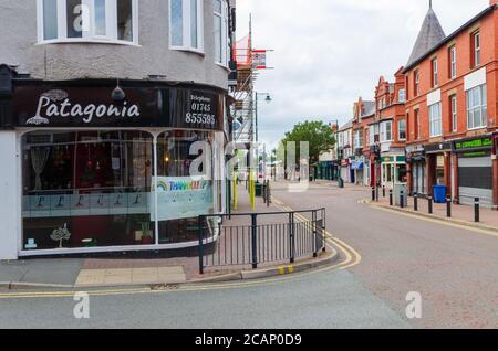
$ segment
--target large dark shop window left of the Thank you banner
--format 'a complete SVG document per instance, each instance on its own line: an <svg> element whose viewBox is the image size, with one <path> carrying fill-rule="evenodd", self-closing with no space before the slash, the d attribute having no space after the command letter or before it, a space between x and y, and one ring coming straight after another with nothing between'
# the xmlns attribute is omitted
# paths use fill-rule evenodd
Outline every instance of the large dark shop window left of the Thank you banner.
<svg viewBox="0 0 498 351"><path fill-rule="evenodd" d="M23 248L154 244L153 164L153 139L146 132L27 134Z"/></svg>

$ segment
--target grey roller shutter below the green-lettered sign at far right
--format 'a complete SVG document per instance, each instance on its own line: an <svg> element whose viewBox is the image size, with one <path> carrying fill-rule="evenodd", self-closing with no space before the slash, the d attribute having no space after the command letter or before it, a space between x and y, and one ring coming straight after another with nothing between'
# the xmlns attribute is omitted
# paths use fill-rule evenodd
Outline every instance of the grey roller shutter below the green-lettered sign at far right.
<svg viewBox="0 0 498 351"><path fill-rule="evenodd" d="M459 158L458 192L461 204L474 204L479 198L484 206L492 205L492 161L490 156Z"/></svg>

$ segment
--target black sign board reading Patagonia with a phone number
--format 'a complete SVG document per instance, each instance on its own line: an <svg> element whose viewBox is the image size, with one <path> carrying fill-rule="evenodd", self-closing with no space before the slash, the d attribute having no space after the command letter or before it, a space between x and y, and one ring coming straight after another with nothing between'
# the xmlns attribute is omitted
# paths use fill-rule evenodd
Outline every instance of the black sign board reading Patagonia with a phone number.
<svg viewBox="0 0 498 351"><path fill-rule="evenodd" d="M224 93L209 88L27 84L14 88L12 116L0 128L173 127L224 130ZM10 119L10 120L9 120ZM9 123L10 121L10 123Z"/></svg>

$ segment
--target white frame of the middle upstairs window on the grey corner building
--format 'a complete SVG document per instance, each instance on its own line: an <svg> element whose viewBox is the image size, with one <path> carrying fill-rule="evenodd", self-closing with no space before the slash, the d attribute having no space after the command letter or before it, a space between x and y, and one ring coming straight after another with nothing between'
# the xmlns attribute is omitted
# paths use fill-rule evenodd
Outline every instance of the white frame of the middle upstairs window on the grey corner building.
<svg viewBox="0 0 498 351"><path fill-rule="evenodd" d="M173 45L173 19L172 19L172 0L168 0L168 13L169 13L169 49L178 51L190 51L199 54L204 54L204 1L197 1L197 46L191 44L191 23L190 23L190 0L181 0L181 20L183 20L183 40L181 45Z"/></svg>

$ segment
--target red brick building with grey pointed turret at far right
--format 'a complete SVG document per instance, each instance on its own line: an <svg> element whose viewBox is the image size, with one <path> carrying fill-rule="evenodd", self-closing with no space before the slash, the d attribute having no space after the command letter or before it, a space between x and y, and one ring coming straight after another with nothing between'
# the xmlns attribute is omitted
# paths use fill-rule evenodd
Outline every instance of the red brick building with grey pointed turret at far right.
<svg viewBox="0 0 498 351"><path fill-rule="evenodd" d="M498 205L498 0L445 35L429 9L404 68L411 193Z"/></svg>

